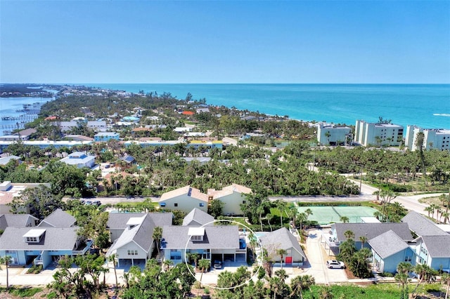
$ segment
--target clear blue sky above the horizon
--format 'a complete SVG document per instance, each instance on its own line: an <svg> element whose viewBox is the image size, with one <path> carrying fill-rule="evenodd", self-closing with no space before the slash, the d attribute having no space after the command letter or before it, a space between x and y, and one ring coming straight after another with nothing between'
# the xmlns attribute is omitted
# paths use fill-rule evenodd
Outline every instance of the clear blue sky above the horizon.
<svg viewBox="0 0 450 299"><path fill-rule="evenodd" d="M0 82L450 83L450 1L0 0Z"/></svg>

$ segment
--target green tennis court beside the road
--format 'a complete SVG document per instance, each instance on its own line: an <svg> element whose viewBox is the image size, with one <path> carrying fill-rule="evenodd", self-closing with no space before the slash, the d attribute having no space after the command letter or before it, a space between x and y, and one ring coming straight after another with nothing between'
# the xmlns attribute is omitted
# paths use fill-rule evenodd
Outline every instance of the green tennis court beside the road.
<svg viewBox="0 0 450 299"><path fill-rule="evenodd" d="M342 222L342 216L348 217L350 223L360 223L361 217L373 217L373 213L377 211L369 206L300 206L298 211L304 213L307 208L312 211L308 220L317 221L321 225Z"/></svg>

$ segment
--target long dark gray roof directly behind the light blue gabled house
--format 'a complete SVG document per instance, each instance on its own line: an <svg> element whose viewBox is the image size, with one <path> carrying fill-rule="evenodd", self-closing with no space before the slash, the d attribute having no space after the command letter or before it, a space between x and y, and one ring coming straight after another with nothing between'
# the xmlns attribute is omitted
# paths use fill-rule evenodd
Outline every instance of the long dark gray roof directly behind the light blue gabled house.
<svg viewBox="0 0 450 299"><path fill-rule="evenodd" d="M413 240L411 231L406 223L335 223L335 228L339 241L347 239L344 235L347 230L351 230L354 233L355 241L359 241L359 237L366 237L370 240L390 230L404 241Z"/></svg>

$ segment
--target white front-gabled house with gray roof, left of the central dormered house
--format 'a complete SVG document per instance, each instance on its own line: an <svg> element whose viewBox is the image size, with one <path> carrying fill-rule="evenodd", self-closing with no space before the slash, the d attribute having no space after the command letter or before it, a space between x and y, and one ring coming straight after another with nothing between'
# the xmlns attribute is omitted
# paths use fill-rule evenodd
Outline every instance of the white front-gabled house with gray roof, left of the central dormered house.
<svg viewBox="0 0 450 299"><path fill-rule="evenodd" d="M120 263L135 262L151 258L154 248L155 227L172 225L172 213L110 213L107 228L111 241L106 256L115 254Z"/></svg>

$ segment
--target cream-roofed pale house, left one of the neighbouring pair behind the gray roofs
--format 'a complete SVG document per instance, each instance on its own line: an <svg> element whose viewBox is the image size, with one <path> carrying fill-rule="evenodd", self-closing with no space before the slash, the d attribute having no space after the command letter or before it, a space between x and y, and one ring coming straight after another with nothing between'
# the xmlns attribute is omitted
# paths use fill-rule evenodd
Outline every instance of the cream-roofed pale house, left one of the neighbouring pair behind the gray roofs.
<svg viewBox="0 0 450 299"><path fill-rule="evenodd" d="M186 213L192 211L193 208L199 208L201 211L207 212L208 196L188 185L165 192L161 195L159 204L161 208L181 210Z"/></svg>

